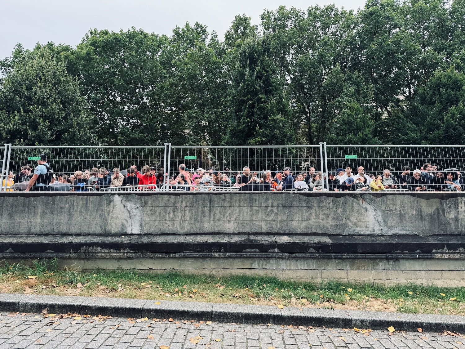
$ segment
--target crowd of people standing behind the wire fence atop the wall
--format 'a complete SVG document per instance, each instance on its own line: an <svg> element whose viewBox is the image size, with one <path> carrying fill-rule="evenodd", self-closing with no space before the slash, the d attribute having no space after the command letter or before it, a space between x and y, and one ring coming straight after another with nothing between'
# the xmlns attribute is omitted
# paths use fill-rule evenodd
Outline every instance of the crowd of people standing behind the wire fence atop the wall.
<svg viewBox="0 0 465 349"><path fill-rule="evenodd" d="M357 173L351 167L338 168L327 175L309 168L308 172L294 174L292 168L252 172L244 167L242 173L229 168L216 171L212 168L188 170L185 164L179 165L177 175L168 178L164 168L145 165L141 171L133 165L125 170L113 168L91 168L75 171L71 175L55 173L47 163L45 154L40 154L38 165L33 168L26 164L20 173L9 171L2 188L7 191L100 191L106 188L135 188L154 190L165 186L183 191L212 191L216 188L237 188L239 191L380 191L385 189L405 189L411 191L462 191L465 189L465 174L457 168L438 170L437 165L425 163L411 173L408 166L402 168L399 178L389 169L381 175L365 173L359 166ZM327 180L327 185L326 185ZM224 189L223 189L224 190Z"/></svg>

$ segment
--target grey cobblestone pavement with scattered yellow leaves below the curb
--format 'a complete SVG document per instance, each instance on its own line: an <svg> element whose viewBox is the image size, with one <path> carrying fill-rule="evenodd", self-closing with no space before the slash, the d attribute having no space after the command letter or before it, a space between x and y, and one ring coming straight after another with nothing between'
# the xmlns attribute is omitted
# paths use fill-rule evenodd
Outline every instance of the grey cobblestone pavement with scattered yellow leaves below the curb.
<svg viewBox="0 0 465 349"><path fill-rule="evenodd" d="M161 323L153 319L99 320L1 313L0 349L465 349L465 338L437 333L373 330L362 334L353 329L169 321L172 319Z"/></svg>

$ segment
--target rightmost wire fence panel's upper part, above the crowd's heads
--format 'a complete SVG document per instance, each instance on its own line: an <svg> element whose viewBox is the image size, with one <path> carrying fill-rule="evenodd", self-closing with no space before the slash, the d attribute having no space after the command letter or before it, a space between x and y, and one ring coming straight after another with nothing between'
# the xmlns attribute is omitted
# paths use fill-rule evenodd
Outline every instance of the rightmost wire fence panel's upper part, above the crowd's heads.
<svg viewBox="0 0 465 349"><path fill-rule="evenodd" d="M353 173L363 166L365 173L382 175L389 169L397 179L404 166L411 171L425 163L437 165L438 170L465 167L465 146L398 146L398 145L327 145L327 170L350 166Z"/></svg>

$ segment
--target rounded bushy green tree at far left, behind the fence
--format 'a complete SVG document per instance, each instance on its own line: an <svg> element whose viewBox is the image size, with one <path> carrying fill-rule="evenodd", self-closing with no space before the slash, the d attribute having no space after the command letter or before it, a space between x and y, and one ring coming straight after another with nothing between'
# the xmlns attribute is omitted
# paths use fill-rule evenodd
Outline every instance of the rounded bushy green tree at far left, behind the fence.
<svg viewBox="0 0 465 349"><path fill-rule="evenodd" d="M91 141L89 109L77 79L50 44L32 52L18 46L0 82L1 142L84 145ZM5 62L5 61L4 61Z"/></svg>

